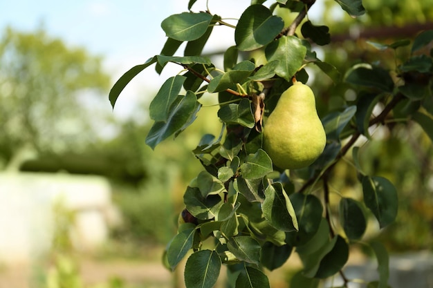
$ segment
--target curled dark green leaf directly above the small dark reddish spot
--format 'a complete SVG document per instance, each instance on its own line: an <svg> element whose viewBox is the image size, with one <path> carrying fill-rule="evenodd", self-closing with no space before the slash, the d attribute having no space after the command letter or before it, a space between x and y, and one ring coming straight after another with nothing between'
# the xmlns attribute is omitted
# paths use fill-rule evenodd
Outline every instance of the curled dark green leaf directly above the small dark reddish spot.
<svg viewBox="0 0 433 288"><path fill-rule="evenodd" d="M199 188L191 186L187 187L187 190L183 195L183 202L185 202L187 210L190 211L195 218L201 220L215 218L216 213L218 213L219 207L221 207L222 204L219 195L203 197Z"/></svg>

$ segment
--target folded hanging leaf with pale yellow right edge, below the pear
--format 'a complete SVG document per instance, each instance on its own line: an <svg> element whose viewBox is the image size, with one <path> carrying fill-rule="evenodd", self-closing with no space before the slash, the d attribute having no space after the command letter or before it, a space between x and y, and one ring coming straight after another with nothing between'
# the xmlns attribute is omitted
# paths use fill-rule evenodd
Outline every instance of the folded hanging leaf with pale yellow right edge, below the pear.
<svg viewBox="0 0 433 288"><path fill-rule="evenodd" d="M299 229L295 209L280 182L275 182L266 188L261 209L265 219L275 229L286 232Z"/></svg>

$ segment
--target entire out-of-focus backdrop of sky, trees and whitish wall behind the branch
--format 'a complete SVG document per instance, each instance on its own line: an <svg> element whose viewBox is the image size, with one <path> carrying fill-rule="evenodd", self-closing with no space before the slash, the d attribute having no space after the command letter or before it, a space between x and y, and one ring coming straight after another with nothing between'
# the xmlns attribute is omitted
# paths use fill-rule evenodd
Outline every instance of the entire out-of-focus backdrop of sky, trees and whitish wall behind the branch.
<svg viewBox="0 0 433 288"><path fill-rule="evenodd" d="M210 0L209 7L233 18L249 3ZM314 48L318 57L342 73L362 61L392 70L407 55L405 48L376 50L367 39L391 44L433 29L433 0L363 3L368 13L358 19L332 0L317 0L309 12L331 31L332 44ZM185 10L187 1L178 0L0 2L0 288L183 287L181 269L167 271L162 255L185 187L201 171L190 151L203 134L221 130L216 97L205 95L199 121L151 151L148 106L178 68L167 66L160 76L147 68L114 110L108 93L122 73L160 52L160 22ZM296 16L276 13L286 23ZM232 33L214 29L205 53L216 65L234 44ZM349 86L308 73L322 115L353 100ZM433 269L432 143L416 124L392 126L362 146L362 165L394 182L400 211L395 224L366 237L386 244L395 263L414 257L422 271ZM333 187L360 191L347 162L337 167ZM299 268L289 262L273 272L273 287L288 287Z"/></svg>

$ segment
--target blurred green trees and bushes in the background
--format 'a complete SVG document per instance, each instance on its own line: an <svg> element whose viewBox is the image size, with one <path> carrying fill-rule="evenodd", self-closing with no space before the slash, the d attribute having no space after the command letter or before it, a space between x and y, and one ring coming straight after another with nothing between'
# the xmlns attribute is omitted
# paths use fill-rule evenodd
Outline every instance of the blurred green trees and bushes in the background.
<svg viewBox="0 0 433 288"><path fill-rule="evenodd" d="M323 19L315 21L329 26L331 44L320 48L322 59L340 71L365 61L395 68L408 48L381 51L366 40L390 44L413 39L420 30L433 26L432 0L364 0L367 15L359 19L344 13L335 16L335 2L324 3ZM287 23L295 17L280 16ZM62 39L41 29L24 33L5 28L1 35L0 168L107 176L124 217L122 226L112 231L113 240L131 242L134 249L142 242L165 244L175 231L185 186L201 171L191 150L201 135L219 134L209 116L214 111L207 113L214 108L203 108L200 121L174 142L166 140L151 151L144 141L151 124L113 119L110 111L98 108L107 102L113 84L102 70L102 57L89 55L84 48L67 47ZM351 101L353 91L347 84L333 86L327 77L316 75L309 83L322 100L317 103L321 115ZM213 102L210 97L209 104ZM143 102L137 109L148 113L148 106ZM371 238L380 239L391 251L431 250L432 143L417 124L387 125L392 129L374 131L378 140L362 146L367 156L361 164L367 174L383 175L398 187L399 211L394 224ZM100 135L105 126L115 127L118 133ZM341 162L335 168L333 189L359 190L349 165Z"/></svg>

